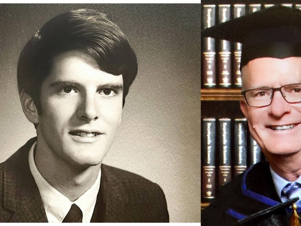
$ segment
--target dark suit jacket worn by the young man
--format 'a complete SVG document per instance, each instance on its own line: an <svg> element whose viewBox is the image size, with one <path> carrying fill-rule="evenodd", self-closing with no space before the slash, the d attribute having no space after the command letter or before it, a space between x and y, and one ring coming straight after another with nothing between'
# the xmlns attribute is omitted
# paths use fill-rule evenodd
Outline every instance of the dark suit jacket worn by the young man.
<svg viewBox="0 0 301 226"><path fill-rule="evenodd" d="M47 222L29 169L29 140L0 164L0 222ZM137 175L101 165L101 185L91 222L168 222L162 189Z"/></svg>

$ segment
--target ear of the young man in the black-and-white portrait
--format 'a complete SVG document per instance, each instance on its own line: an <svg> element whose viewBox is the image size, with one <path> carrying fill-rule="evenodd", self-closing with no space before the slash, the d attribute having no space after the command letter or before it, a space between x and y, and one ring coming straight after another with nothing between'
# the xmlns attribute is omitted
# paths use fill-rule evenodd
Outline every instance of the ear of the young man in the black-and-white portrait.
<svg viewBox="0 0 301 226"><path fill-rule="evenodd" d="M20 101L21 101L22 109L23 109L23 112L24 112L26 118L33 124L38 124L39 123L38 110L36 108L35 103L33 102L32 97L29 96L24 91L24 89L21 91Z"/></svg>

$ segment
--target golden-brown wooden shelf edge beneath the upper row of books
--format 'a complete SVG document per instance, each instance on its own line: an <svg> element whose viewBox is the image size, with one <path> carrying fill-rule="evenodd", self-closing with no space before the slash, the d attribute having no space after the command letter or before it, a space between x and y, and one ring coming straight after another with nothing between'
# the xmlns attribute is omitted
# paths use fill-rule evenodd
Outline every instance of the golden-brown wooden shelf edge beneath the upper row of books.
<svg viewBox="0 0 301 226"><path fill-rule="evenodd" d="M241 89L201 89L201 100L242 100Z"/></svg>

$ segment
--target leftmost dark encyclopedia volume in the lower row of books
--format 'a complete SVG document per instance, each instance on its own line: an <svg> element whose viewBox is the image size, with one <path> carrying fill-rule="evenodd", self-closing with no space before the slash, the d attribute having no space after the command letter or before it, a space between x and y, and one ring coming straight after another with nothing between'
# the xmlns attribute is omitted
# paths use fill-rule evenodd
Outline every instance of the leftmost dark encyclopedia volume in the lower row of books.
<svg viewBox="0 0 301 226"><path fill-rule="evenodd" d="M203 180L202 197L215 197L215 118L203 119Z"/></svg>

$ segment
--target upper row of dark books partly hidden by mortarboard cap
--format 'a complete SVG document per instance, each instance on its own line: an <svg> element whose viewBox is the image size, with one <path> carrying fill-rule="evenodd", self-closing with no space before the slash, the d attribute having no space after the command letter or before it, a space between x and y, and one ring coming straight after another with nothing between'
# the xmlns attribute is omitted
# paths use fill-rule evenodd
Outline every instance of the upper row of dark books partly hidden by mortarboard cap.
<svg viewBox="0 0 301 226"><path fill-rule="evenodd" d="M203 5L203 28L223 23L233 18L244 16L271 7L274 4L234 4ZM281 4L301 9L301 4ZM217 21L217 23L216 23ZM202 39L202 86L204 88L241 87L240 57L241 43L215 40L210 37ZM218 57L216 57L218 55Z"/></svg>

